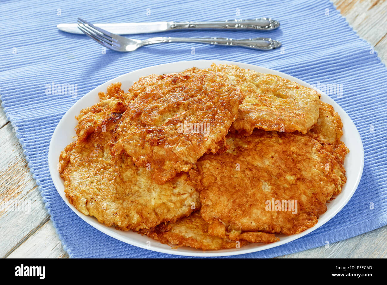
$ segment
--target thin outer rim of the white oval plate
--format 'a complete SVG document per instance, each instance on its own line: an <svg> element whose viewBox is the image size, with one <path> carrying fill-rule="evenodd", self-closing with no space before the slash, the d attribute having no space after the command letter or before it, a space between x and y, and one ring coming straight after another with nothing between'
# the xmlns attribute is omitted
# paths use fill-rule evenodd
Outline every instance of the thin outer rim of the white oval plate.
<svg viewBox="0 0 387 285"><path fill-rule="evenodd" d="M329 102L329 104L333 105L334 110L336 112L338 112L338 109L339 109L339 111L341 111L340 112L340 117L341 117L342 121L343 121L342 114L345 114L346 121L348 121L348 119L349 119L349 122L353 124L354 129L356 130L356 138L351 137L351 139L356 139L357 143L360 144L360 146L361 146L361 149L359 149L360 150L360 155L358 153L359 159L360 159L360 168L358 169L358 171L356 173L356 181L354 183L353 188L351 189L351 192L348 193L348 195L346 196L346 199L344 199L341 202L341 204L339 204L339 206L336 206L336 209L334 209L334 210L332 210L330 212L329 216L327 216L327 217L323 216L326 213L325 212L324 214L321 215L321 216L324 217L324 219L322 219L322 217L320 216L317 224L314 225L312 228L308 228L307 230L302 231L301 233L298 233L298 234L295 234L295 235L286 236L286 237L288 237L288 239L286 239L285 241L283 241L283 239L282 239L279 242L275 242L275 243L272 243L272 244L261 245L261 246L257 246L257 247L252 247L252 248L248 248L248 249L243 249L243 248L240 248L238 250L231 249L233 251L230 251L230 249L222 249L222 250L200 250L200 249L194 249L194 251L184 251L183 252L183 251L175 250L175 249L172 249L172 248L164 249L164 248L160 248L160 247L154 247L152 245L151 246L146 246L144 244L139 244L138 242L133 242L133 241L129 242L127 239L123 238L121 235L118 235L118 232L119 232L118 230L115 230L113 227L108 227L108 226L106 226L106 225L104 225L102 223L99 223L95 217L86 216L86 215L82 214L72 204L70 204L68 202L68 199L65 197L64 191L62 191L63 193L60 192L59 187L58 187L60 185L58 185L57 179L54 178L55 176L53 176L54 171L56 171L56 173L57 173L57 163L54 166L54 164L53 164L54 162L51 162L55 158L55 156L54 156L55 150L54 150L54 146L53 146L53 141L58 136L60 127L63 125L63 122L64 122L65 118L68 117L69 114L73 112L73 110L77 109L78 105L82 104L82 101L84 101L84 100L86 100L86 98L92 96L92 94L96 95L97 91L102 88L101 86L104 86L104 85L107 86L110 83L117 82L117 81L122 81L122 78L133 76L133 74L137 74L137 73L143 74L144 72L146 73L147 71L151 71L152 69L154 69L156 67L157 68L161 68L161 67L170 67L170 66L182 65L182 66L184 66L184 69L187 69L189 67L192 67L192 66L195 66L195 65L198 65L198 64L199 65L208 65L209 66L209 65L211 65L211 63L215 63L215 64L235 64L235 65L238 65L238 66L240 66L242 68L250 68L250 69L253 69L253 70L255 70L254 68L258 68L260 70L259 72L275 74L275 75L281 76L283 78L287 78L287 79L290 79L292 81L295 81L295 82L297 82L297 83L299 83L299 84L301 84L303 86L307 86L307 87L313 88L312 85L310 85L309 83L307 83L305 81L302 81L301 79L298 79L298 78L296 78L294 76L290 76L290 75L288 75L286 73L282 73L282 72L276 71L274 69L269 69L269 68L266 68L266 67L257 66L257 65L253 65L253 64L247 64L247 63L243 63L243 62L228 61L228 60L186 60L186 61L169 62L169 63L166 63L166 64L158 64L158 65L155 65L155 66L144 67L142 69L137 69L137 70L131 71L129 73L122 74L120 76L117 76L117 77L115 77L113 79L110 79L110 80L100 84L96 88L92 89L91 91L87 92L85 95L80 97L77 100L77 102L75 102L67 110L67 112L63 115L63 117L60 119L59 123L55 127L53 135L51 136L50 146L49 146L49 150L48 150L49 171L50 171L51 180L53 181L55 189L59 193L60 197L65 201L67 206L70 207L70 209L73 212L75 212L75 214L77 214L83 221L85 221L86 223L91 225L93 228L96 228L97 230L101 231L102 233L104 233L104 234L106 234L106 235L108 235L110 237L113 237L113 238L115 238L117 240L120 240L122 242L125 242L127 244L131 244L131 245L134 245L134 246L137 246L137 247L140 247L140 248L144 248L144 249L147 249L147 250L153 250L153 251L156 251L156 252L162 252L162 253L166 253L166 254L173 254L173 255L179 255L179 256L197 256L197 257L234 256L234 255L247 254L247 253L258 252L258 251L261 251L261 250L278 247L280 245L287 244L287 243L292 242L292 241L294 241L294 240L296 240L298 238L301 238L301 237L307 235L308 233L317 230L320 226L324 225L330 219L334 218L334 216L336 216L336 214L339 211L341 211L341 209L348 203L348 201L351 199L351 197L353 196L354 192L356 191L356 189L357 189L357 187L358 187L358 185L360 183L360 180L361 180L361 176L362 176L363 168L364 168L364 147L363 147L363 143L361 141L360 134L359 134L359 132L358 132L358 130L356 128L356 125L353 123L353 121L349 117L349 115L344 111L344 109L342 109L342 107L339 104L336 103L336 101L334 101L332 98L330 98L324 92L320 92L320 91L319 91L319 93L322 95L321 97L323 99L327 99L328 101L332 101L333 102L333 104L331 104L331 102ZM179 69L179 67L177 69ZM148 73L148 74L152 74L152 72ZM144 75L145 74L143 74L141 76L144 76ZM138 77L135 76L135 78L136 78L135 80L137 80ZM343 126L343 128L345 128L345 126ZM62 151L62 150L60 150L60 151ZM354 150L352 150L352 151L354 151ZM59 155L58 155L58 157L59 157ZM58 162L58 157L56 158L57 162ZM347 160L347 157L346 157L346 160ZM62 179L62 178L60 178L60 179ZM348 184L348 181L344 185L344 187L347 184ZM93 223L93 224L89 223L89 221L87 221L87 218L94 219L96 221L96 223ZM322 221L321 221L321 219L322 219ZM108 230L109 228L113 228L114 230L110 231L110 230Z"/></svg>

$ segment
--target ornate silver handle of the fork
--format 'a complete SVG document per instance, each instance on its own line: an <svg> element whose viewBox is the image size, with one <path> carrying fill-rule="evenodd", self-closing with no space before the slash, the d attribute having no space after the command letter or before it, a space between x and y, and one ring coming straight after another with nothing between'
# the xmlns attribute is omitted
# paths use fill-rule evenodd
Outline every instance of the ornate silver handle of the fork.
<svg viewBox="0 0 387 285"><path fill-rule="evenodd" d="M172 38L172 37L157 37L150 38L141 42L141 46L153 45L155 43L206 43L209 45L228 45L253 48L256 50L272 50L273 48L281 47L281 43L271 38L253 38L244 40L233 40L231 38Z"/></svg>

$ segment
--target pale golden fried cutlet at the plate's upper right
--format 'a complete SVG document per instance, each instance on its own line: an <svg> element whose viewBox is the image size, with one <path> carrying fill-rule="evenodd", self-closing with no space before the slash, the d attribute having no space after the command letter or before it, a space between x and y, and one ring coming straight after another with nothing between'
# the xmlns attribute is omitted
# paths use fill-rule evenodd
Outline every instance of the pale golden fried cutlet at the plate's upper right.
<svg viewBox="0 0 387 285"><path fill-rule="evenodd" d="M235 65L221 64L213 68L233 78L244 97L231 130L245 135L250 135L255 128L305 134L317 122L320 95L315 90L280 76Z"/></svg>

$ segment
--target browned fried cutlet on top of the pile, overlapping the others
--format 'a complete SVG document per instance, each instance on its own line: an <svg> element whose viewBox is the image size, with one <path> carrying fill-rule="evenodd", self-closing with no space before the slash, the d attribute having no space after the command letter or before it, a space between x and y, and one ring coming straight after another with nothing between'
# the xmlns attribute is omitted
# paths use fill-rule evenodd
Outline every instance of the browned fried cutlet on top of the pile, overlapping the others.
<svg viewBox="0 0 387 285"><path fill-rule="evenodd" d="M111 152L125 152L137 166L151 167L156 183L163 184L219 149L243 96L226 74L212 68L142 81L130 90L135 99L117 124Z"/></svg>

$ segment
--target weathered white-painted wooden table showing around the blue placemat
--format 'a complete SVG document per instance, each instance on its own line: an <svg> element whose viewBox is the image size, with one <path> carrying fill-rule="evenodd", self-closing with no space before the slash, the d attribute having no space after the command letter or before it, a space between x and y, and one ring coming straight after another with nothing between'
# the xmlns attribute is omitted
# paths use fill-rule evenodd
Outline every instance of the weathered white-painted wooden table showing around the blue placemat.
<svg viewBox="0 0 387 285"><path fill-rule="evenodd" d="M387 2L384 0L334 0L334 4L358 34L369 41L387 62ZM378 24L375 24L378 23ZM68 258L50 221L22 147L0 110L0 201L31 201L31 213L0 211L0 257ZM279 258L387 257L387 226L315 249Z"/></svg>

